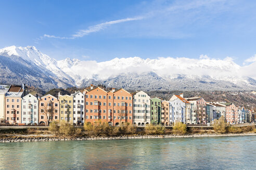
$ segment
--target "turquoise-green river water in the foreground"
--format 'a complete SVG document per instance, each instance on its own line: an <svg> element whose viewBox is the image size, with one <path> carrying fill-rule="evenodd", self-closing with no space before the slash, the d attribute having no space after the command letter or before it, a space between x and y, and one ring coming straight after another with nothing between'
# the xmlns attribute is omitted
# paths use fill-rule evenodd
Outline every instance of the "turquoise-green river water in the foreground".
<svg viewBox="0 0 256 170"><path fill-rule="evenodd" d="M0 144L0 169L256 169L256 136Z"/></svg>

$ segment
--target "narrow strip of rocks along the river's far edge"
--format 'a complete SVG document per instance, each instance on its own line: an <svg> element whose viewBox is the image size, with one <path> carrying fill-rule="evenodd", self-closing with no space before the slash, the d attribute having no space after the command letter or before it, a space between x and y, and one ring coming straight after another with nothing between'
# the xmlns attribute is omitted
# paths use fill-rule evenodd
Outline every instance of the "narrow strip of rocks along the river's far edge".
<svg viewBox="0 0 256 170"><path fill-rule="evenodd" d="M190 138L190 137L219 137L219 136L255 136L256 133L240 134L189 134L189 135L141 135L141 136L112 136L112 137L45 137L45 136L12 136L0 138L0 143L22 141L64 141L64 140L116 140L116 139L153 139L153 138Z"/></svg>

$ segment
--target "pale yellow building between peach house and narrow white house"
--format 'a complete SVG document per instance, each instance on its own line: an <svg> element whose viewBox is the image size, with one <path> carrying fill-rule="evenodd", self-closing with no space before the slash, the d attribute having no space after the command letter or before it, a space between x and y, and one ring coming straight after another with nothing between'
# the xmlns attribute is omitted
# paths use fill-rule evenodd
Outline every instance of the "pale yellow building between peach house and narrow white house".
<svg viewBox="0 0 256 170"><path fill-rule="evenodd" d="M58 95L60 105L60 121L65 120L73 123L73 96L70 95Z"/></svg>

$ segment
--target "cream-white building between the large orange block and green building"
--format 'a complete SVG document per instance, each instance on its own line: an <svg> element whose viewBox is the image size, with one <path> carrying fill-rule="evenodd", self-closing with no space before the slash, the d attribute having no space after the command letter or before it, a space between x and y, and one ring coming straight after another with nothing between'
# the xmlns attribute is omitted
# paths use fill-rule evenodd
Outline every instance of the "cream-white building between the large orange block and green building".
<svg viewBox="0 0 256 170"><path fill-rule="evenodd" d="M150 123L150 96L144 91L133 95L133 124L146 125Z"/></svg>

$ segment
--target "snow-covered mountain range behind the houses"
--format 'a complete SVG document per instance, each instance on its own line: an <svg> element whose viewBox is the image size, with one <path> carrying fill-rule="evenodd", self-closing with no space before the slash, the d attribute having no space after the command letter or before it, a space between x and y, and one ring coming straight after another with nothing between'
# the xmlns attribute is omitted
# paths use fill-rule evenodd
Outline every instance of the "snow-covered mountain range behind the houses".
<svg viewBox="0 0 256 170"><path fill-rule="evenodd" d="M256 88L255 63L239 66L232 58L141 59L115 58L106 62L57 61L35 47L0 49L0 83L54 87L109 87L141 90L250 90ZM254 73L252 73L254 71Z"/></svg>

